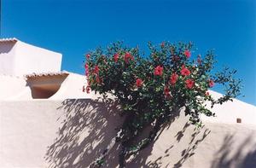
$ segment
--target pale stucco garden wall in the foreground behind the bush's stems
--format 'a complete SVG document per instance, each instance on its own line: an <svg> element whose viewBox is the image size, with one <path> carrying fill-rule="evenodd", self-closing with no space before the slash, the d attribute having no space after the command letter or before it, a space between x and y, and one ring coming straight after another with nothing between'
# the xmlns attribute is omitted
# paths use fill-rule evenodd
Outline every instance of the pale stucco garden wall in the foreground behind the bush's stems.
<svg viewBox="0 0 256 168"><path fill-rule="evenodd" d="M88 167L122 119L112 99L0 101L0 167ZM127 167L256 167L256 125L206 121L183 113ZM117 167L119 146L103 167Z"/></svg>

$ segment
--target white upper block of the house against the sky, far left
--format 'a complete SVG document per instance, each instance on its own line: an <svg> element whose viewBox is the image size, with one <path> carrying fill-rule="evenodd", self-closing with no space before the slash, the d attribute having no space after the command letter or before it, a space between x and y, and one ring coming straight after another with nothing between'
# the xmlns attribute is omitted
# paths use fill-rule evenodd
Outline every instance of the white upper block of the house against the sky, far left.
<svg viewBox="0 0 256 168"><path fill-rule="evenodd" d="M33 72L60 72L61 58L60 53L16 38L0 39L0 74L23 76Z"/></svg>

